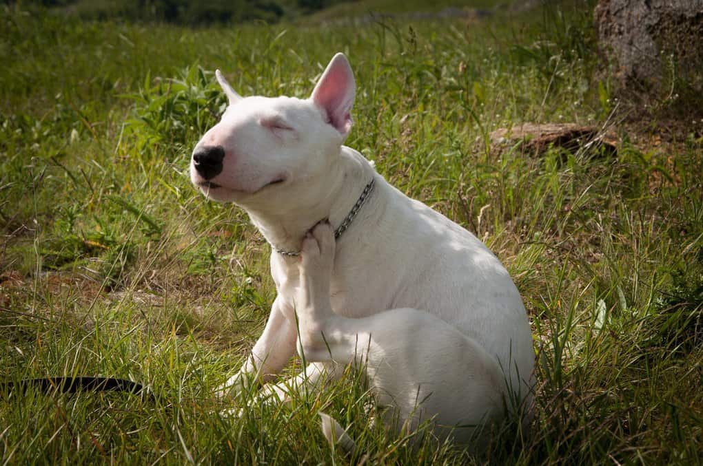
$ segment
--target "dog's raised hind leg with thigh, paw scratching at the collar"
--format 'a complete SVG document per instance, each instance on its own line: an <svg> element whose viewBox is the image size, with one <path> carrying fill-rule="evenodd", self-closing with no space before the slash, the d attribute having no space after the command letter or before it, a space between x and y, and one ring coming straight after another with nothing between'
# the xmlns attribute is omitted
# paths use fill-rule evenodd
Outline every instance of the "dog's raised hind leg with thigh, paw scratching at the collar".
<svg viewBox="0 0 703 466"><path fill-rule="evenodd" d="M439 436L470 441L486 422L505 414L505 374L498 359L434 314L413 308L359 319L335 314L334 249L326 223L302 245L295 310L298 351L307 361L361 368L380 404L392 406L384 418L397 430L413 432L431 419Z"/></svg>

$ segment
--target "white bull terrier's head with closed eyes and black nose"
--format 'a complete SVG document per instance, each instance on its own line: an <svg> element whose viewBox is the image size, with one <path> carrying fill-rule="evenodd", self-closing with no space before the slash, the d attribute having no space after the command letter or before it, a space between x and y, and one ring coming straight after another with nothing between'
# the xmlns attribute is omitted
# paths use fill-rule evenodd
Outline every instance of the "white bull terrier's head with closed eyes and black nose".
<svg viewBox="0 0 703 466"><path fill-rule="evenodd" d="M216 76L229 105L195 145L193 184L209 199L242 206L314 197L352 128L356 84L347 58L337 53L305 100L243 98Z"/></svg>

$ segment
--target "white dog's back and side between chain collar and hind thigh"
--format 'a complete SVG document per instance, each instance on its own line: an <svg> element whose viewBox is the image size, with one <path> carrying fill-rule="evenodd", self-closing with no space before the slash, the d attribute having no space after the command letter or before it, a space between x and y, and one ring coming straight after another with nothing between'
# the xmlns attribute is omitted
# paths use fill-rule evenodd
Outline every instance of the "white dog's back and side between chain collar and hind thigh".
<svg viewBox="0 0 703 466"><path fill-rule="evenodd" d="M362 157L348 148L343 154ZM425 309L497 357L513 390L522 382L524 394L534 352L520 293L505 267L466 229L376 176L363 215L337 245L335 312L364 317Z"/></svg>

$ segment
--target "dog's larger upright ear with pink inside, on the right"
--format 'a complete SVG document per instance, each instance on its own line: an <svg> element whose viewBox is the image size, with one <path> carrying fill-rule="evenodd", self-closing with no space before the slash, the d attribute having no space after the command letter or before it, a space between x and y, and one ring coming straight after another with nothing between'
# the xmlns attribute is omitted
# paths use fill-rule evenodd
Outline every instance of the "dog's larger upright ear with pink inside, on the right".
<svg viewBox="0 0 703 466"><path fill-rule="evenodd" d="M352 129L352 105L356 95L354 73L344 53L337 53L327 65L310 98L327 114L330 124L344 138Z"/></svg>

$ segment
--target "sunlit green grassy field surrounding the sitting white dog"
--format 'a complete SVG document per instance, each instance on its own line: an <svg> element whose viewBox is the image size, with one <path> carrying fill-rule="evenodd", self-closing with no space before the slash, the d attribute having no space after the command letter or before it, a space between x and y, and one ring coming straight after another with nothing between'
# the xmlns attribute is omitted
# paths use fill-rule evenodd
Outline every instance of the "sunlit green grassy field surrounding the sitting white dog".
<svg viewBox="0 0 703 466"><path fill-rule="evenodd" d="M324 443L323 407L369 463L703 462L703 121L621 111L594 77L591 18L579 3L185 29L1 6L2 464L359 459ZM506 426L479 456L408 448L369 430L353 374L291 407L220 413L214 389L274 289L246 215L188 180L225 105L213 72L243 95L306 97L337 51L359 84L347 145L475 232L520 288L538 357L529 437ZM613 131L617 153L491 144L526 121ZM4 385L58 375L131 378L156 399Z"/></svg>

